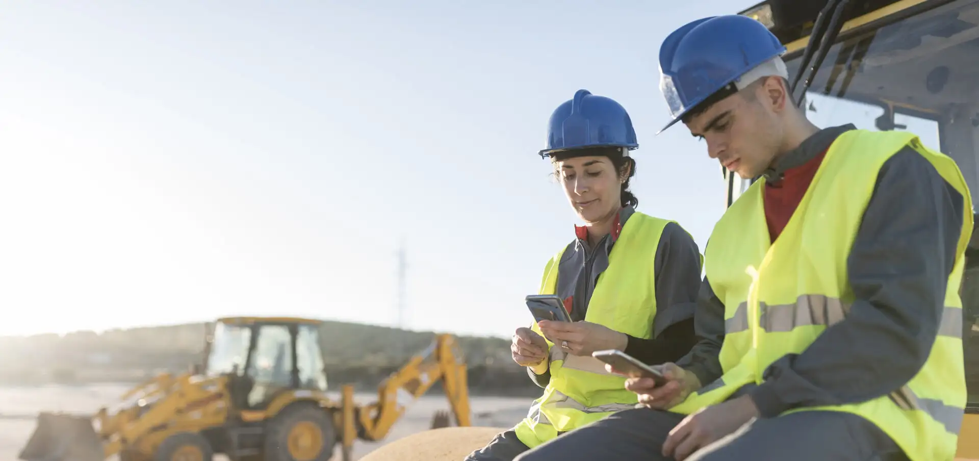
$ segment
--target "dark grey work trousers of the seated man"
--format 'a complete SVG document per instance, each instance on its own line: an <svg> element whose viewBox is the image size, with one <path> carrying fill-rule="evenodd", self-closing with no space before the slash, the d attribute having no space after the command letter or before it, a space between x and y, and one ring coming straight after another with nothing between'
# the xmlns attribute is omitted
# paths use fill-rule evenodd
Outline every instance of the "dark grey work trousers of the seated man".
<svg viewBox="0 0 979 461"><path fill-rule="evenodd" d="M555 438L516 461L673 461L662 454L670 430L683 419L648 408L620 411ZM708 445L687 461L907 461L897 444L863 418L837 411L805 411L760 419Z"/></svg>

